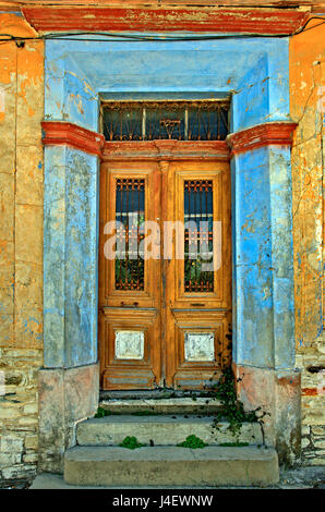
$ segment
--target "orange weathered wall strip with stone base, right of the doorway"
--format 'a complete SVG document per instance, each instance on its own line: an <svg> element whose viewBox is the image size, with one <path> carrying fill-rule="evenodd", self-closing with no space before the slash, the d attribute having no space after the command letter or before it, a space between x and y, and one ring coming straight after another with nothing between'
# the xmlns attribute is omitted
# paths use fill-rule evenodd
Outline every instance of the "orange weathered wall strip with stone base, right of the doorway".
<svg viewBox="0 0 325 512"><path fill-rule="evenodd" d="M317 24L317 21L312 22ZM297 366L302 368L302 449L325 463L324 298L324 25L290 41Z"/></svg>

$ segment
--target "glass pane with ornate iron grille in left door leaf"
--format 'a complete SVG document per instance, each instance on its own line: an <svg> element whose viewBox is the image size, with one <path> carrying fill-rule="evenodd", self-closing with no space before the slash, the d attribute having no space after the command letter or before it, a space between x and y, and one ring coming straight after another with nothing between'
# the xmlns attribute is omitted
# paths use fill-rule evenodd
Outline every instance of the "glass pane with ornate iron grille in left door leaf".
<svg viewBox="0 0 325 512"><path fill-rule="evenodd" d="M144 259L139 246L144 237L145 182L118 179L116 190L116 290L144 290Z"/></svg>

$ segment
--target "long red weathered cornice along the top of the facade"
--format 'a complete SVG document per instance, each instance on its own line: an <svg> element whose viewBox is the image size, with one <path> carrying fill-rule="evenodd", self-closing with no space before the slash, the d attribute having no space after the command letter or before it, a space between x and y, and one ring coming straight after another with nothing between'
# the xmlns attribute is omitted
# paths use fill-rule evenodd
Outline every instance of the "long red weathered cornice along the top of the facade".
<svg viewBox="0 0 325 512"><path fill-rule="evenodd" d="M122 7L23 7L27 22L37 31L157 31L233 34L291 34L309 13L294 9Z"/></svg>

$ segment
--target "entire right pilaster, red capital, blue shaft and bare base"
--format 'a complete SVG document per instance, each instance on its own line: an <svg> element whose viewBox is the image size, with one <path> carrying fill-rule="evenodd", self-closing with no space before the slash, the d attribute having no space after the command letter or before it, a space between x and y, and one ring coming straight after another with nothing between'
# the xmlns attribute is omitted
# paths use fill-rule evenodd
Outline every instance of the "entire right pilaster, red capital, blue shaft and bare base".
<svg viewBox="0 0 325 512"><path fill-rule="evenodd" d="M294 369L293 123L230 134L233 230L233 367L246 410L261 406L266 441L292 462L299 451Z"/></svg>

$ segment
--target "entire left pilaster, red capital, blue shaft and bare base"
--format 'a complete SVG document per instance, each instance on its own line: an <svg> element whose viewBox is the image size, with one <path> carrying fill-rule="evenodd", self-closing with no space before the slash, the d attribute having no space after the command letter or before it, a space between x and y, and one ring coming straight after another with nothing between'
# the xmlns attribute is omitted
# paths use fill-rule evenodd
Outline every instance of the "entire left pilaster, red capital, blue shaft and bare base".
<svg viewBox="0 0 325 512"><path fill-rule="evenodd" d="M39 459L62 472L76 423L98 405L98 155L103 135L44 122L44 368Z"/></svg>

